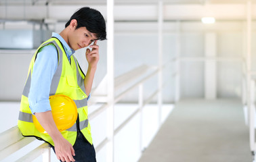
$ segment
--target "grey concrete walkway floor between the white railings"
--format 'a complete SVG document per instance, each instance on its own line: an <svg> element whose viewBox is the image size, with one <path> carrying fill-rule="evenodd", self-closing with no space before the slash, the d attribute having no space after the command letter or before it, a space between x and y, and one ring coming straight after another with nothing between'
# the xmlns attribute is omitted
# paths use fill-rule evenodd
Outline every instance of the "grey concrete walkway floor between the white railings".
<svg viewBox="0 0 256 162"><path fill-rule="evenodd" d="M249 162L249 128L236 100L177 103L140 162Z"/></svg>

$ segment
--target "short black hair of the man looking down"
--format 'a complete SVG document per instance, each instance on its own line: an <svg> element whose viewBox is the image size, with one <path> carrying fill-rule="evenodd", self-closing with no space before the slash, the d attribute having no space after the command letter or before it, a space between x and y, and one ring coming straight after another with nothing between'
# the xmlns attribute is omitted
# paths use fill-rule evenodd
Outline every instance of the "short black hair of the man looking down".
<svg viewBox="0 0 256 162"><path fill-rule="evenodd" d="M65 28L69 26L71 20L77 20L77 28L85 27L91 33L94 33L98 40L106 39L106 22L100 14L100 11L91 9L90 7L82 7L77 10L68 20Z"/></svg>

